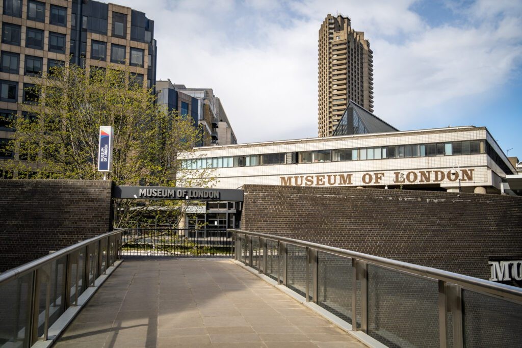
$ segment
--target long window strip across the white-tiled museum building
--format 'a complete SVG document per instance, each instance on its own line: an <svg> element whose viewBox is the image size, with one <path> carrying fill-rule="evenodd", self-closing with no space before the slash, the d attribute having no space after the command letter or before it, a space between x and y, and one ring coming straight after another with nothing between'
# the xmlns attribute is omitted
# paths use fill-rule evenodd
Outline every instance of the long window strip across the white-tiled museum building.
<svg viewBox="0 0 522 348"><path fill-rule="evenodd" d="M206 169L290 163L323 163L485 153L484 140L438 142L372 148L268 153L186 160L182 169ZM288 159L288 160L287 160Z"/></svg>

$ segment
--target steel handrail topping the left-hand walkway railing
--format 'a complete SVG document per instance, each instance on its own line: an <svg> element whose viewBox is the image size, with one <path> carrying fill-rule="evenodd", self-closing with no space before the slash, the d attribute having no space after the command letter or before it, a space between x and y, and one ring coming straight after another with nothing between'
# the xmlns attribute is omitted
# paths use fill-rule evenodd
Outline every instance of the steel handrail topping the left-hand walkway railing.
<svg viewBox="0 0 522 348"><path fill-rule="evenodd" d="M66 256L68 254L74 253L76 250L79 250L82 247L86 247L87 245L89 245L93 242L97 242L100 239L103 239L108 236L112 236L113 234L118 234L118 233L124 232L126 230L127 229L116 229L114 231L86 239L85 241L81 241L79 243L76 243L76 244L70 245L68 247L65 247L63 249L60 249L60 250L56 251L55 253L42 256L41 258L38 258L36 260L24 263L21 266L18 266L18 267L12 268L10 270L7 270L5 272L2 272L2 273L0 273L0 285L6 283L8 281L11 281L13 279L20 278L23 275L40 268L41 266L45 265L45 263L56 260L58 258Z"/></svg>

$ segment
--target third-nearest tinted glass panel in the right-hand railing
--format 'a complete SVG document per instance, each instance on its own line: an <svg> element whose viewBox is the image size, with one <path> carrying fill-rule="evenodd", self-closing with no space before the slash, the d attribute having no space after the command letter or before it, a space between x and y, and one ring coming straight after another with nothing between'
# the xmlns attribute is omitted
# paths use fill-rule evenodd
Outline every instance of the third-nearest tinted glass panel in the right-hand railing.
<svg viewBox="0 0 522 348"><path fill-rule="evenodd" d="M352 323L352 278L352 259L317 253L317 304L349 323Z"/></svg>

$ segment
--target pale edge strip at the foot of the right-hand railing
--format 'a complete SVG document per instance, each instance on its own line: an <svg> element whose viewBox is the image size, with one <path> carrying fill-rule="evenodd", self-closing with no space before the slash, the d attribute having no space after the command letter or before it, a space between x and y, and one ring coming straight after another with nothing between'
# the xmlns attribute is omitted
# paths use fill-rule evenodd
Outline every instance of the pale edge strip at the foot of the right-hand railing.
<svg viewBox="0 0 522 348"><path fill-rule="evenodd" d="M236 265L242 267L243 269L247 270L248 272L251 272L252 274L256 275L258 278L264 280L268 284L276 287L277 289L279 289L279 291L292 297L293 299L295 299L295 301L298 301L305 307L312 309L315 313L322 316L326 320L330 321L335 326L337 326L341 330L347 332L348 334L352 335L354 338L356 338L357 340L366 344L367 346L369 346L371 348L387 348L386 345L377 341L373 337L370 337L370 335L368 335L362 331L353 331L352 326L349 322L342 320L341 318L331 314L329 311L327 311L326 309L324 309L321 306L318 306L317 304L315 304L313 302L306 302L306 299L304 298L304 296L301 296L300 294L296 293L295 291L290 290L288 287L286 287L284 285L277 284L277 282L274 279L268 277L267 275L265 275L263 273L259 273L259 271L257 271L256 269L254 269L250 266L244 265L243 262L240 262L240 261L237 261L234 259L230 259L230 261L232 263L235 263Z"/></svg>

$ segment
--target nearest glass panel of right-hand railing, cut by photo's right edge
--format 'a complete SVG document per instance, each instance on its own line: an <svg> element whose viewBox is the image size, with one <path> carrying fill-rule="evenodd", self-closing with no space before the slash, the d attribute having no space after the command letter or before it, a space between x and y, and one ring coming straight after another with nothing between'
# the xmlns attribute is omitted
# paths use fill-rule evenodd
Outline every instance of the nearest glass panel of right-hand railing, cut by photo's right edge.
<svg viewBox="0 0 522 348"><path fill-rule="evenodd" d="M522 347L522 304L462 290L466 347Z"/></svg>

